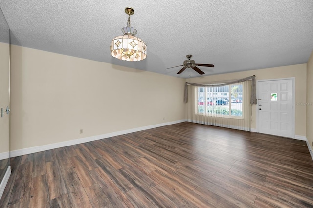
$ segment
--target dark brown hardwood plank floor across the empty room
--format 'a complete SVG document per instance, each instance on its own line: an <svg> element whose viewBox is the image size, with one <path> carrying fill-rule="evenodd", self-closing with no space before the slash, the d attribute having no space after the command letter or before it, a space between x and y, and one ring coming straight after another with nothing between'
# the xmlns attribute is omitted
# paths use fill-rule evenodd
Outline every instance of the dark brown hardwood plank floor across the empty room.
<svg viewBox="0 0 313 208"><path fill-rule="evenodd" d="M313 207L305 141L179 123L11 159L1 208Z"/></svg>

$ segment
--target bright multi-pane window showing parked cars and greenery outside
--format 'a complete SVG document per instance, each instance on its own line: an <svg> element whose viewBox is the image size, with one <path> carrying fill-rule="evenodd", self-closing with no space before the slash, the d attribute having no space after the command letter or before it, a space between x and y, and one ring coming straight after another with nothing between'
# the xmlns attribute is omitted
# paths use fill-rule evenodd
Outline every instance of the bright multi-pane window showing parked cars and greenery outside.
<svg viewBox="0 0 313 208"><path fill-rule="evenodd" d="M198 87L197 114L219 117L243 116L243 84Z"/></svg>

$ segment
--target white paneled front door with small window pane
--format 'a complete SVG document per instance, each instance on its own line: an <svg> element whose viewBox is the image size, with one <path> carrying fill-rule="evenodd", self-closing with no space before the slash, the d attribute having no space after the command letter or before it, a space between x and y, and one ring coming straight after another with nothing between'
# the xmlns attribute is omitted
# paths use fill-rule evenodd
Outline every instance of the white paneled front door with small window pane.
<svg viewBox="0 0 313 208"><path fill-rule="evenodd" d="M258 132L292 138L292 79L258 81Z"/></svg>

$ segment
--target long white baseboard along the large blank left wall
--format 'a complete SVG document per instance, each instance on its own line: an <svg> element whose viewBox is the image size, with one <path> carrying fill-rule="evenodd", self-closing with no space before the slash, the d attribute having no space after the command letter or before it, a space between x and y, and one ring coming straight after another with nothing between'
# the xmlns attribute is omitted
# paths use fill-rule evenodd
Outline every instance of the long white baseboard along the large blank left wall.
<svg viewBox="0 0 313 208"><path fill-rule="evenodd" d="M185 122L185 121L186 120L183 119L183 120L178 120L178 121L173 121L173 122L166 122L166 123L161 123L161 124L156 124L156 125L148 125L148 126L132 128L132 129L123 130L123 131L116 131L116 132L107 133L107 134L101 134L101 135L85 137L85 138L80 138L80 139L75 139L75 140L69 140L69 141L65 141L65 142L58 142L58 143L53 143L53 144L49 144L49 145L34 146L34 147L30 147L30 148L13 150L13 151L10 151L10 157L17 157L17 156L21 156L21 155L31 154L31 153L35 153L35 152L41 152L41 151L45 151L45 150L49 150L49 149L55 149L55 148L64 147L64 146L77 145L77 144L90 142L90 141L94 141L94 140L99 140L99 139L114 137L114 136L118 136L118 135L133 133L136 131L143 131L143 130L161 127L161 126L165 126L165 125L178 124L178 123Z"/></svg>

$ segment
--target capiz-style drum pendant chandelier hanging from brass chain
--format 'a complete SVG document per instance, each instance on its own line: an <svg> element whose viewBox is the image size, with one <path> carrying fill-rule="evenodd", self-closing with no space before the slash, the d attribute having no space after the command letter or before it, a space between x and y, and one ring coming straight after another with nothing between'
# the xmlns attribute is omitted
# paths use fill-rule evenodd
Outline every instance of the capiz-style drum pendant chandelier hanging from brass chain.
<svg viewBox="0 0 313 208"><path fill-rule="evenodd" d="M135 37L137 30L131 27L131 15L134 14L134 9L126 7L125 13L128 14L127 26L122 28L123 36L117 36L112 40L111 55L116 59L131 62L144 60L147 56L147 45L140 38Z"/></svg>

